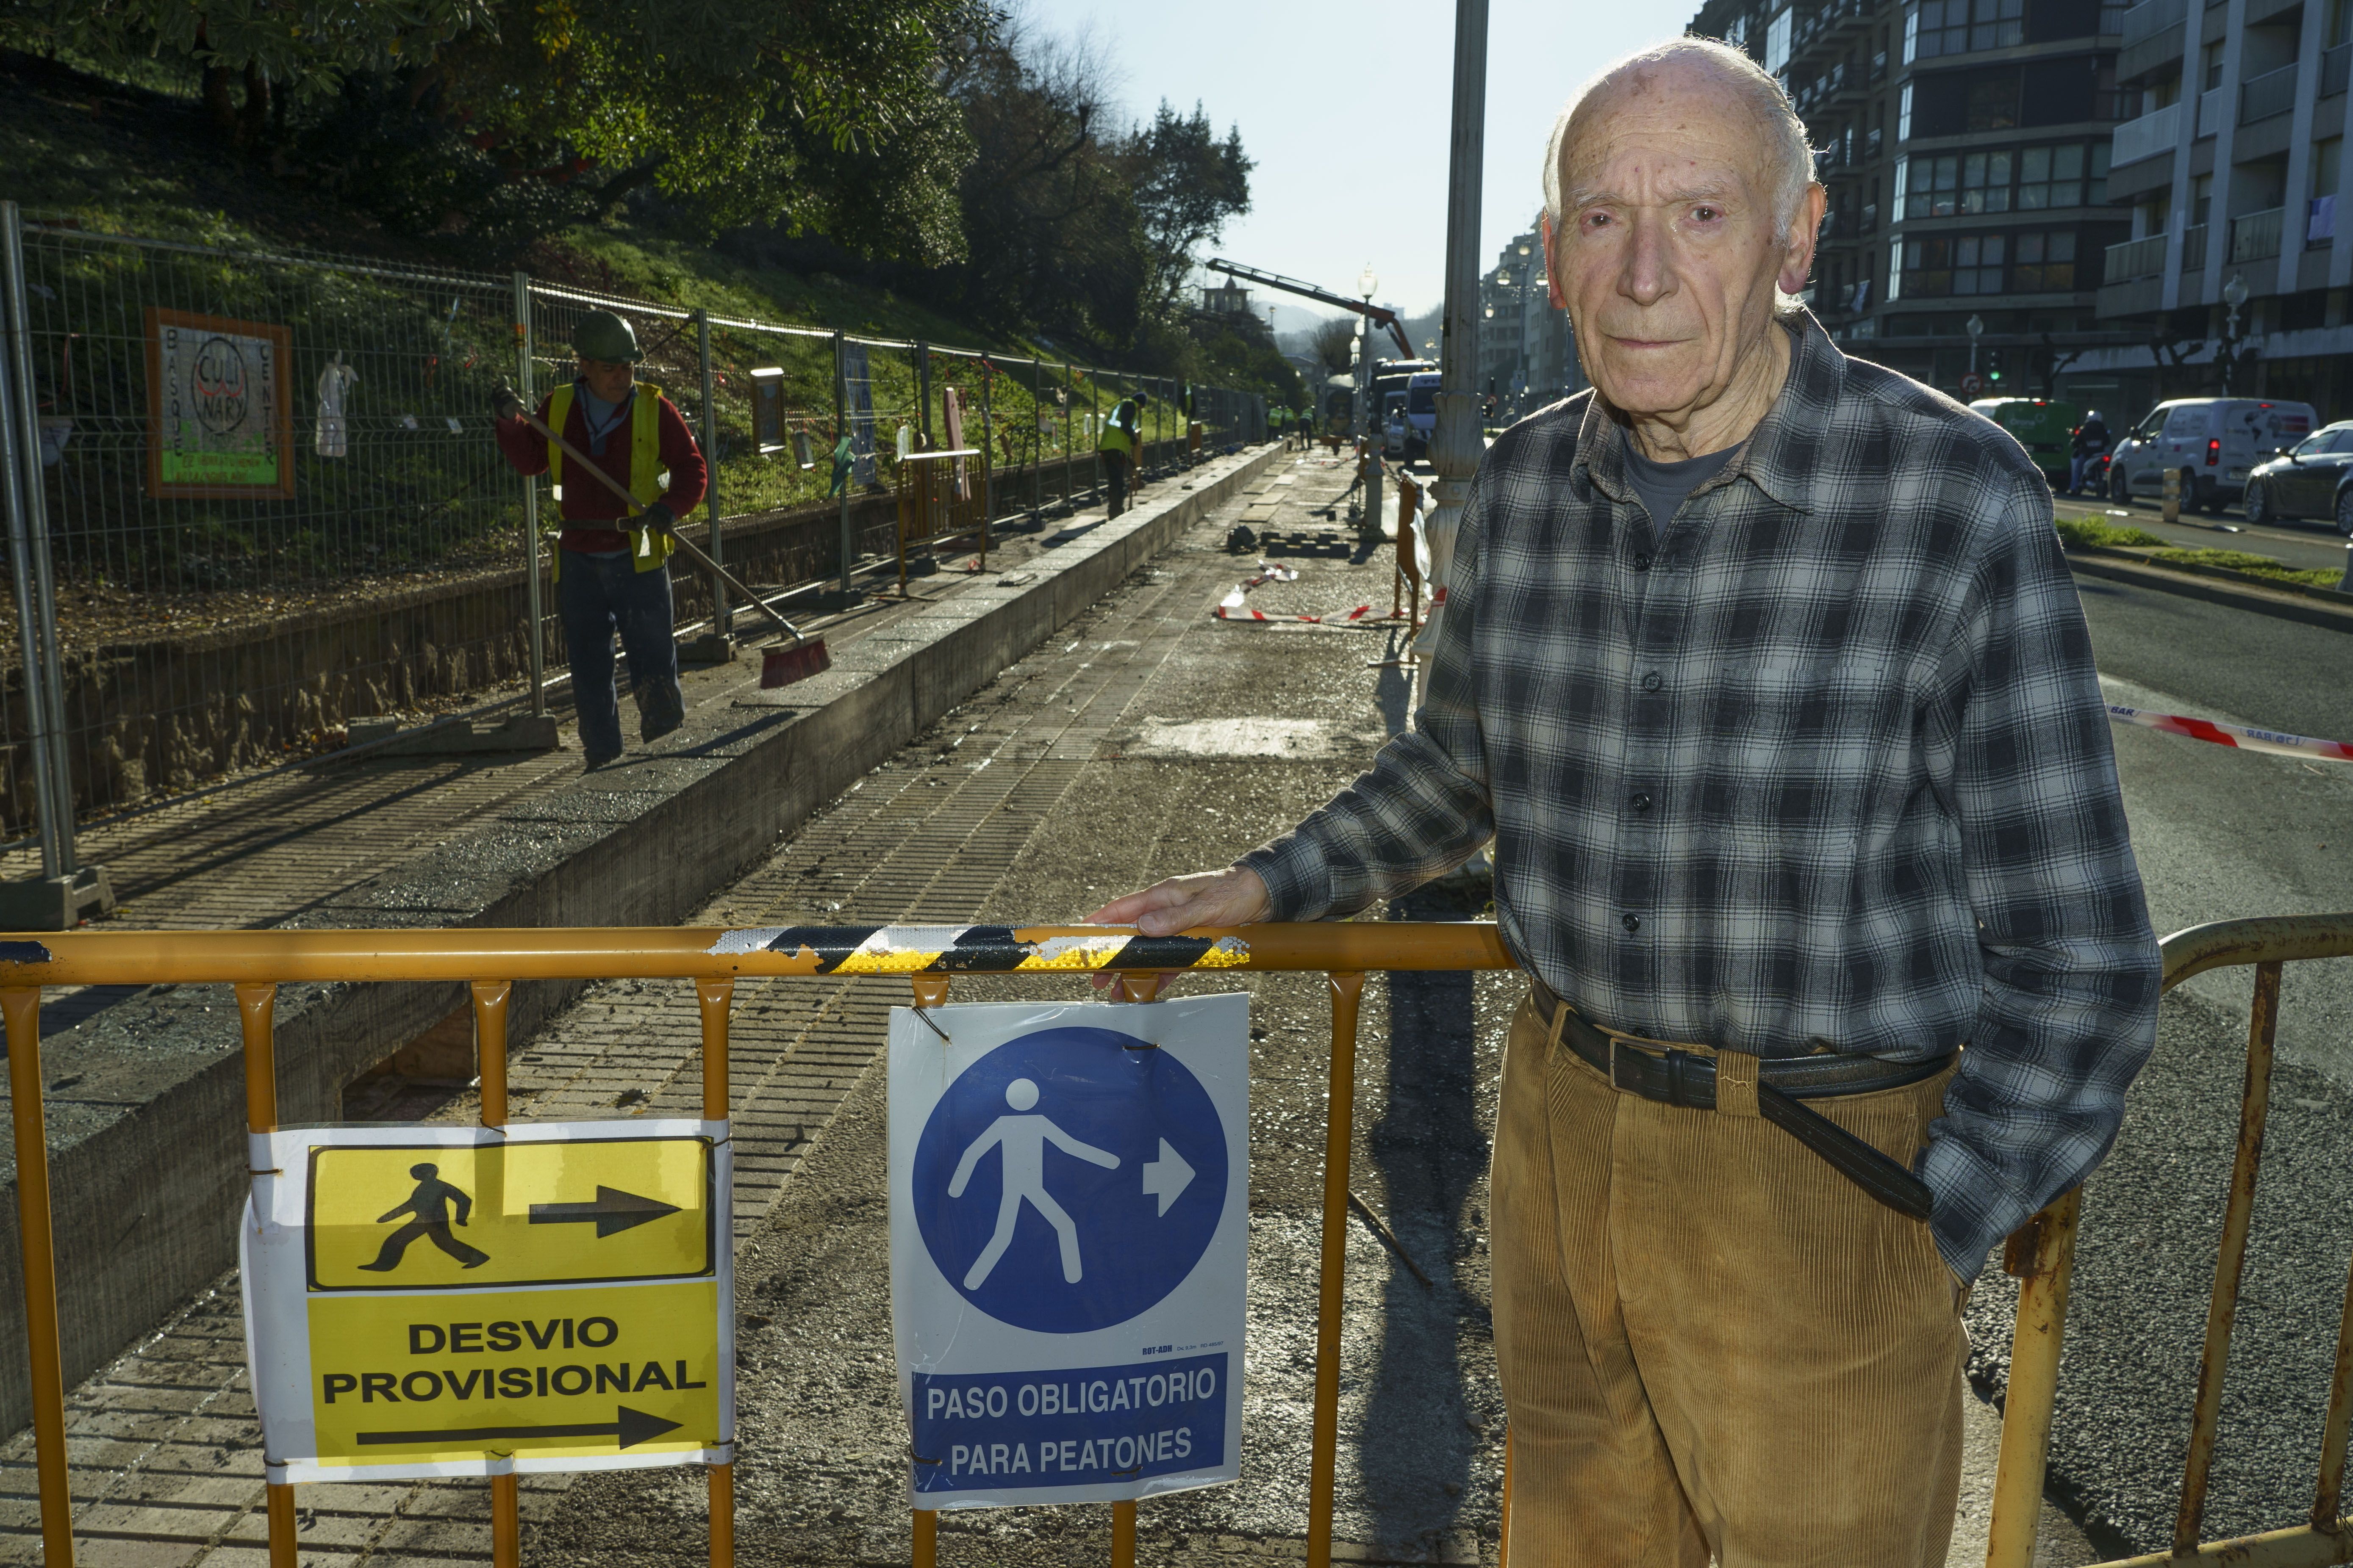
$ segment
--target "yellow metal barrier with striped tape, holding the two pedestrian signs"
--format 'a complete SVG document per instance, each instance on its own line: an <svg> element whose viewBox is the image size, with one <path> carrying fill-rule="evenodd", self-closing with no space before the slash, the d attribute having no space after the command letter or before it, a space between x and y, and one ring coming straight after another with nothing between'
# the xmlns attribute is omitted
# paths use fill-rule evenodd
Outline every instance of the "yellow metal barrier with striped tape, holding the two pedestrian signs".
<svg viewBox="0 0 2353 1568"><path fill-rule="evenodd" d="M951 454L925 454L951 456ZM704 1119L727 1119L727 1011L739 976L889 976L918 1006L948 999L958 973L1118 973L1125 999L1148 999L1176 971L1325 971L1332 992L1332 1093L1325 1135L1322 1288L1315 1324L1315 1425L1308 1474L1308 1566L1332 1561L1332 1483L1339 1462L1339 1312L1348 1227L1348 1147L1355 1107L1355 1023L1365 971L1513 969L1492 924L1306 924L1144 938L1106 926L852 926L795 931L788 947L729 952L727 931L68 931L0 940L14 1095L16 1208L24 1241L26 1342L33 1366L33 1446L40 1467L45 1568L73 1566L66 1483L66 1389L42 1135L40 990L47 985L231 983L245 1025L247 1128L278 1126L273 1006L301 980L464 980L473 1001L482 1124L504 1126L506 1018L515 980L692 980L701 1006ZM765 936L765 933L762 933ZM734 1469L711 1469L711 1563L734 1563ZM936 1512L915 1512L915 1568L936 1563ZM296 1568L294 1488L268 1490L271 1568ZM1113 1563L1132 1568L1136 1505L1113 1505ZM492 1479L492 1563L520 1563L513 1476Z"/></svg>

